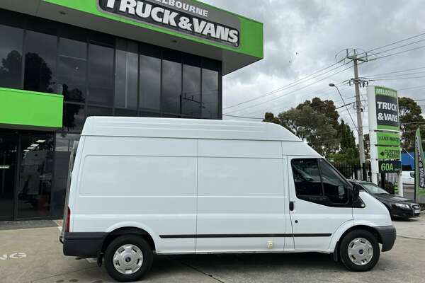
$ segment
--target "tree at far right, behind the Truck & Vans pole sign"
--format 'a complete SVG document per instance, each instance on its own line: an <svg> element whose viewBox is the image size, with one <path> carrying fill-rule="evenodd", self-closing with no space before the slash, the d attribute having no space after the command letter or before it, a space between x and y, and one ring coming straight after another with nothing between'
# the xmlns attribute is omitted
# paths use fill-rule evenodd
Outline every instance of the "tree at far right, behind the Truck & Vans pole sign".
<svg viewBox="0 0 425 283"><path fill-rule="evenodd" d="M402 148L414 151L414 137L418 127L425 125L421 107L412 98L399 98L399 120Z"/></svg>

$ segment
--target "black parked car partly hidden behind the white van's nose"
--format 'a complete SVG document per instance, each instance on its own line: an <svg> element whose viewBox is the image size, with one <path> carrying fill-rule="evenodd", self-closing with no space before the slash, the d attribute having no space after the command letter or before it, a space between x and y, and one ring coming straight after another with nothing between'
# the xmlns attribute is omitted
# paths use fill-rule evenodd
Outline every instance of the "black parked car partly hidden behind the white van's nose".
<svg viewBox="0 0 425 283"><path fill-rule="evenodd" d="M405 197L392 195L386 190L383 190L378 185L370 182L351 181L353 184L360 185L363 190L376 197L382 204L387 207L392 218L413 218L421 216L421 207L413 200Z"/></svg>

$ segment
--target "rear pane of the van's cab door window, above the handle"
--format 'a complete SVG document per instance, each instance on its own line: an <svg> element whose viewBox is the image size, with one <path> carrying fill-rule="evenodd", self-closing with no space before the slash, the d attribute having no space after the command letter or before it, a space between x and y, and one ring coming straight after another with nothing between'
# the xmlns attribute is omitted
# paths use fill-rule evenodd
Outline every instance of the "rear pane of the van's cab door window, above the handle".
<svg viewBox="0 0 425 283"><path fill-rule="evenodd" d="M294 159L292 168L297 197L323 195L317 159Z"/></svg>

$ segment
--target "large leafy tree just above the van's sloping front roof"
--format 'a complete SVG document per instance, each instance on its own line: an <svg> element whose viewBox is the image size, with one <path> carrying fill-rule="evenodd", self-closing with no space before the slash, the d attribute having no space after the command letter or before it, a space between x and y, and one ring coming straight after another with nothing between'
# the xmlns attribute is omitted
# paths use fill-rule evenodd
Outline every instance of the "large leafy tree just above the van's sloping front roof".
<svg viewBox="0 0 425 283"><path fill-rule="evenodd" d="M280 113L279 120L280 125L307 141L319 154L327 156L331 154L329 148L339 145L338 132L329 119L308 105Z"/></svg>

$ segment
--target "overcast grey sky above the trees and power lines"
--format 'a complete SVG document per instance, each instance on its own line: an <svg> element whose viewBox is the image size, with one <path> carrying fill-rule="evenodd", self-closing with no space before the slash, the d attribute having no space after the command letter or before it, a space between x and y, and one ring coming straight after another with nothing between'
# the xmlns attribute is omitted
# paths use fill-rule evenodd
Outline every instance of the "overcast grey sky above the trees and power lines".
<svg viewBox="0 0 425 283"><path fill-rule="evenodd" d="M372 50L375 47L425 33L424 0L205 0L205 2L264 23L265 58L261 62L235 71L223 79L223 108L225 108L223 112L230 115L263 117L266 111L278 114L315 96L332 99L338 106L343 105L336 89L329 88L328 84L351 79L353 69L343 71L312 86L303 87L334 74L336 71L346 69L351 64L317 79L305 81L293 88L275 93L273 96L226 109L230 105L261 96L334 64L336 53L346 48L356 47ZM399 43L399 45L418 40L424 41L377 56L425 45L425 35ZM399 45L392 45L376 52ZM360 67L360 75L369 76L425 67L424 59L425 48L421 48L363 64ZM422 73L416 74L419 72ZM395 75L400 74L403 73ZM390 77L387 79L397 78L398 80L377 81L375 84L395 89L425 85L425 68L406 71L404 74L412 75ZM384 76L390 75L382 77ZM424 78L399 79L412 76L423 76ZM297 91L298 88L303 89ZM353 87L341 86L341 92L346 103L354 100ZM365 92L365 89L362 92ZM400 91L399 95L425 99L425 88ZM270 103L263 103L279 96L282 98ZM258 103L263 104L235 112ZM422 101L421 104L425 105L425 101ZM353 109L350 111L354 112ZM341 117L347 122L350 120L347 111L341 112ZM355 116L353 117L356 119ZM367 125L367 115L365 115L365 120L365 125ZM352 125L351 122L350 124Z"/></svg>

